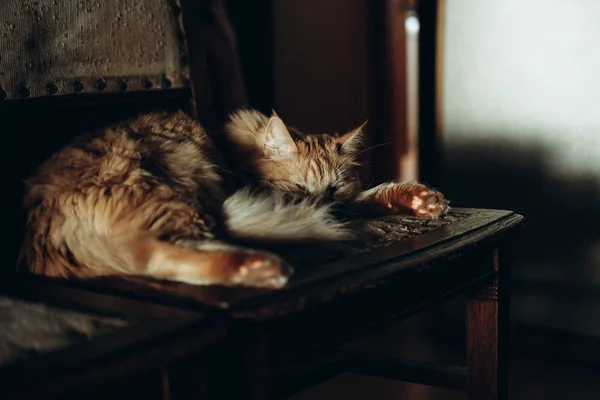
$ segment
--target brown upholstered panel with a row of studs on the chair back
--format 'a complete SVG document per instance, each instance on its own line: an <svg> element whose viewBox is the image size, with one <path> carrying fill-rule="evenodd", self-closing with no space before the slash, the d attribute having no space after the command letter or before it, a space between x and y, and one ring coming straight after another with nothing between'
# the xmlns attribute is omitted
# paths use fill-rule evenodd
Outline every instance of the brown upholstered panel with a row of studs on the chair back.
<svg viewBox="0 0 600 400"><path fill-rule="evenodd" d="M180 11L170 0L2 0L0 96L188 87Z"/></svg>

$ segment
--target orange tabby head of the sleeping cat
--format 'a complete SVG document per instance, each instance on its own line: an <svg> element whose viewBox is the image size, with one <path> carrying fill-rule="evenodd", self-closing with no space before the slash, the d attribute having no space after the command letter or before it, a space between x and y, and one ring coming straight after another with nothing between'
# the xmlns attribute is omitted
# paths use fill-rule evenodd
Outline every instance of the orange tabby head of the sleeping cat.
<svg viewBox="0 0 600 400"><path fill-rule="evenodd" d="M345 134L305 134L286 126L276 113L252 116L253 170L259 180L285 192L334 201L359 191L356 156L364 124Z"/></svg>

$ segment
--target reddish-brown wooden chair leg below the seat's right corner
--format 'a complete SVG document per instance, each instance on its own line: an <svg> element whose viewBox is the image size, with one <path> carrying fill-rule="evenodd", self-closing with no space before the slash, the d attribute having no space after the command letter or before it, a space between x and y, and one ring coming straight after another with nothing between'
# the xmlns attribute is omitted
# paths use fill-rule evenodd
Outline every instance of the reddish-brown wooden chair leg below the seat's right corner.
<svg viewBox="0 0 600 400"><path fill-rule="evenodd" d="M492 282L467 299L467 368L470 400L508 398L510 266L500 268L494 250Z"/></svg>

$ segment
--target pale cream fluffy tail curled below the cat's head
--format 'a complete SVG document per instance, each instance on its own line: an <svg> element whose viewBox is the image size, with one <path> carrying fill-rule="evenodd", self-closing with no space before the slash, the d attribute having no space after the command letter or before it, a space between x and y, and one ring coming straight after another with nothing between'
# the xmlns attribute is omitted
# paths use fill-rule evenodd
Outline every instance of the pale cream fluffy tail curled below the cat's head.
<svg viewBox="0 0 600 400"><path fill-rule="evenodd" d="M335 218L331 205L305 199L290 203L282 194L234 193L224 203L229 233L236 239L263 243L340 241L352 237Z"/></svg>

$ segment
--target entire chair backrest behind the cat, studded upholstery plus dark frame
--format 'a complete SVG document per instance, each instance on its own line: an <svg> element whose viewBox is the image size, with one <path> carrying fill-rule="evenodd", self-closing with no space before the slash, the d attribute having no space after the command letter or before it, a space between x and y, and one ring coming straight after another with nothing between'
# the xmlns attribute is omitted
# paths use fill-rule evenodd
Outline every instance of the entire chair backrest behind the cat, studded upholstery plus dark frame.
<svg viewBox="0 0 600 400"><path fill-rule="evenodd" d="M235 63L222 57L235 47L221 34L222 7L221 0L0 0L0 137L9 168L2 198L11 232L0 271L14 269L22 240L23 180L74 136L156 110L183 109L214 127L215 114L227 113L219 107L243 105L227 103L227 93L243 93L241 80L210 70L212 54ZM215 75L232 82L210 82Z"/></svg>

